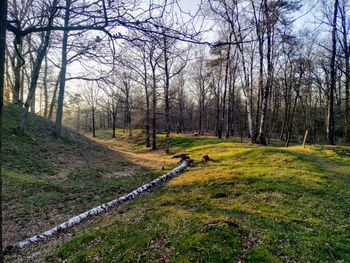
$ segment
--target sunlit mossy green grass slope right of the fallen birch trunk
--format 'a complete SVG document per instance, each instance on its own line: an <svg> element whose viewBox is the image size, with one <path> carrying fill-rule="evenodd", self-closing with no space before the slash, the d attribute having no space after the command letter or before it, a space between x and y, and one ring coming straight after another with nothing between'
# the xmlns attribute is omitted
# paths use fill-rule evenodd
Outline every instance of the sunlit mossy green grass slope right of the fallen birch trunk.
<svg viewBox="0 0 350 263"><path fill-rule="evenodd" d="M214 161L119 207L47 261L350 262L349 147L259 147L189 135L172 144ZM129 148L151 154L138 143Z"/></svg>

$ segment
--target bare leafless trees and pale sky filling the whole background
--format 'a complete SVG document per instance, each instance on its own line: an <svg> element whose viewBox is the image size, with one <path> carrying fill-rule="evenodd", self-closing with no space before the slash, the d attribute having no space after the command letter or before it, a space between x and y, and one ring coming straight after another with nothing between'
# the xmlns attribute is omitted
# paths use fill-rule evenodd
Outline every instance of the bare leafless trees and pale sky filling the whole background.
<svg viewBox="0 0 350 263"><path fill-rule="evenodd" d="M18 132L32 111L57 136L62 121L94 136L141 128L156 149L165 132L168 153L171 132L349 143L349 4L311 5L314 32L295 24L301 4L207 0L187 14L176 1L10 0L5 94L25 109ZM213 43L194 22L209 18Z"/></svg>

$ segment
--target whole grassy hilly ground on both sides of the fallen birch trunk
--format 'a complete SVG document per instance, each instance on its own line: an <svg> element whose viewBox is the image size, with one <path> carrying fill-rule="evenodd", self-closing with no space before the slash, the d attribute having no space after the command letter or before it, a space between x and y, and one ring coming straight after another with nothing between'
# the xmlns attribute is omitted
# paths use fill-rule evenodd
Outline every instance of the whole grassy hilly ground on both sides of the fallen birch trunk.
<svg viewBox="0 0 350 263"><path fill-rule="evenodd" d="M32 115L12 134L5 109L5 241L62 222L158 176L177 159L142 134L65 130ZM174 153L199 161L142 197L42 242L14 262L350 262L350 147L256 146L172 134ZM159 145L164 145L160 135ZM45 247L43 244L53 243ZM29 255L29 256L28 256ZM30 257L30 258L29 258Z"/></svg>

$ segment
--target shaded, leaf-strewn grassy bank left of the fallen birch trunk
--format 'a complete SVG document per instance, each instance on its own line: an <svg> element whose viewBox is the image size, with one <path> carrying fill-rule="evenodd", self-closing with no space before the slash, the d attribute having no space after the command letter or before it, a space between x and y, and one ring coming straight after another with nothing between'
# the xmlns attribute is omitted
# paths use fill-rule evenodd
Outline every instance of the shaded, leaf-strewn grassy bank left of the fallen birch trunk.
<svg viewBox="0 0 350 263"><path fill-rule="evenodd" d="M24 136L13 130L20 109L5 107L4 242L13 244L126 193L159 173L135 165L76 132L53 136L29 116Z"/></svg>

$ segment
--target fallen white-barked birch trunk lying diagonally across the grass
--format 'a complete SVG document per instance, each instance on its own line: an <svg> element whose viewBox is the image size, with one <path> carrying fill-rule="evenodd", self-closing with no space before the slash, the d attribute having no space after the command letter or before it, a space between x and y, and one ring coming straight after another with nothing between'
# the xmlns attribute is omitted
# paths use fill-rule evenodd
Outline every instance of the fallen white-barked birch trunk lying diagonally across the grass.
<svg viewBox="0 0 350 263"><path fill-rule="evenodd" d="M122 204L126 201L132 200L132 199L136 198L138 195L147 191L148 189L151 189L151 188L167 181L168 179L180 174L189 165L189 163L190 163L190 160L185 160L179 166L177 166L176 168L171 170L169 173L162 175L162 176L158 177L157 179L154 179L150 183L144 184L144 185L140 186L139 188L135 189L134 191L132 191L126 195L123 195L117 199L114 199L108 203L104 203L104 204L99 205L97 207L94 207L94 208L92 208L84 213L81 213L77 216L74 216L71 219L67 220L66 222L63 222L62 224L55 226L54 228L51 228L50 230L47 230L41 234L32 236L32 237L25 239L23 241L20 241L15 245L7 246L7 247L5 247L4 252L5 252L5 254L9 254L14 250L22 249L26 246L33 244L33 243L36 243L36 242L39 242L39 241L44 240L46 238L52 237L54 234L59 233L62 230L68 229L74 225L77 225L85 219L88 219L92 216L96 216L98 214L106 212L107 210L110 210L112 207L115 207L115 206Z"/></svg>

